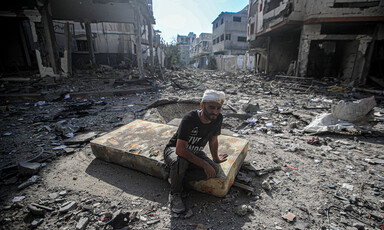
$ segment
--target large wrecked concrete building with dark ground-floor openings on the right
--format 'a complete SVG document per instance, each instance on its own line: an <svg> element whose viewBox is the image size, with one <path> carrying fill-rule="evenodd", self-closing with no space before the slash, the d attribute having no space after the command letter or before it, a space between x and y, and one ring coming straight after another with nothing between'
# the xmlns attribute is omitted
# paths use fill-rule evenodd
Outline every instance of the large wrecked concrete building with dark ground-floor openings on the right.
<svg viewBox="0 0 384 230"><path fill-rule="evenodd" d="M256 72L383 86L384 2L250 0Z"/></svg>

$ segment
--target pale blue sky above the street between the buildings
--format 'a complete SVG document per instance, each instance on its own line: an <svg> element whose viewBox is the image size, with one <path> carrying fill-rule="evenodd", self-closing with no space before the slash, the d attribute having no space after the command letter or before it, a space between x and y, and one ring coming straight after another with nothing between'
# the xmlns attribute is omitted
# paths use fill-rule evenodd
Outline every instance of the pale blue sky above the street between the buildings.
<svg viewBox="0 0 384 230"><path fill-rule="evenodd" d="M221 12L238 12L249 0L153 0L155 30L165 42L177 35L212 33L212 22Z"/></svg>

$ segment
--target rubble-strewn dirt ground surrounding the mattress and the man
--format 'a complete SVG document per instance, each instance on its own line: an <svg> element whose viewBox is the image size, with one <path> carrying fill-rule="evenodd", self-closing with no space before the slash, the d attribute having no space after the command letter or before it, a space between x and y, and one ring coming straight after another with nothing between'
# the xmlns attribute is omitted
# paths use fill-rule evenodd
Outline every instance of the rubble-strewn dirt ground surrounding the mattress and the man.
<svg viewBox="0 0 384 230"><path fill-rule="evenodd" d="M119 211L127 222L117 229L380 229L384 97L339 85L333 79L200 70L140 80L134 71L109 68L3 82L1 229L113 229L109 221ZM135 119L180 118L194 102L184 110L165 104L199 98L207 88L226 93L225 133L249 140L237 180L254 192L232 187L218 198L190 191L188 212L173 214L166 181L96 159L89 140L68 143ZM377 106L371 131L303 132L340 100L372 95ZM26 172L18 167L23 162L38 162L41 169ZM281 170L259 175L274 167ZM32 175L36 182L18 188Z"/></svg>

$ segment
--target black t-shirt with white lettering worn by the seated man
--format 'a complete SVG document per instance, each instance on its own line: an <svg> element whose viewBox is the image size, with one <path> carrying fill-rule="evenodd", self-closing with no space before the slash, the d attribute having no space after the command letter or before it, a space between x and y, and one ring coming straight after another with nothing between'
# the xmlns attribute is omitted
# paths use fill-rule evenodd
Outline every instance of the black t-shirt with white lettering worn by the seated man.
<svg viewBox="0 0 384 230"><path fill-rule="evenodd" d="M221 134L221 124L223 123L223 115L219 113L216 120L209 124L203 124L200 121L197 110L187 113L177 132L169 141L167 147L176 147L177 139L188 142L188 149L193 153L202 151L207 142L213 137Z"/></svg>

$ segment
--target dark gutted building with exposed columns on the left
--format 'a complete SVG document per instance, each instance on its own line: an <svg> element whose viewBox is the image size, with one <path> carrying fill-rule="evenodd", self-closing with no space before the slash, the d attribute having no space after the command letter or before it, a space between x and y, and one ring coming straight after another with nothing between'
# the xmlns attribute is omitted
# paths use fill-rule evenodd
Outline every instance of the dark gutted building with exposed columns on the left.
<svg viewBox="0 0 384 230"><path fill-rule="evenodd" d="M17 1L3 3L3 73L36 71L40 76L71 75L98 64L138 66L162 63L160 38L153 30L151 0Z"/></svg>

